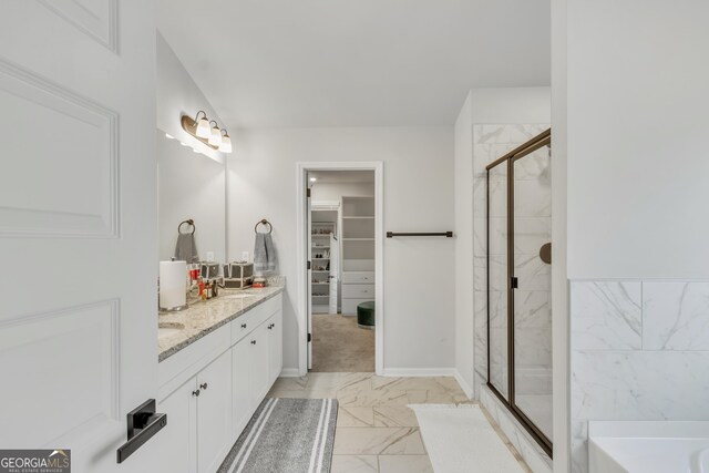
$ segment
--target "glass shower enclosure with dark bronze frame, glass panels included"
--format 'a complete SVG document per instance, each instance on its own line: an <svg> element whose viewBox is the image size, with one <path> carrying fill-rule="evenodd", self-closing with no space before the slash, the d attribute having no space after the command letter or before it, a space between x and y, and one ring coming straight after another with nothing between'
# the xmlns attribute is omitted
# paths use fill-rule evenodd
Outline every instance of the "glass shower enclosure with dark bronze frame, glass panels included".
<svg viewBox="0 0 709 473"><path fill-rule="evenodd" d="M487 385L552 455L551 130L487 167Z"/></svg>

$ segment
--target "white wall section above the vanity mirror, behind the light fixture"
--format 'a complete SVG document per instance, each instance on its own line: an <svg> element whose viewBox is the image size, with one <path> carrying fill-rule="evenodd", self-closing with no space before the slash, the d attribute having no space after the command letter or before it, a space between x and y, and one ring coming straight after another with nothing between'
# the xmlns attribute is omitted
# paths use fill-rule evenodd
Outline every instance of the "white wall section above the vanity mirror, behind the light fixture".
<svg viewBox="0 0 709 473"><path fill-rule="evenodd" d="M204 96L187 70L182 65L169 44L157 32L157 128L201 153L224 163L224 154L212 150L182 128L182 115L193 119L199 110L206 112L209 120L216 120L219 127L224 122Z"/></svg>

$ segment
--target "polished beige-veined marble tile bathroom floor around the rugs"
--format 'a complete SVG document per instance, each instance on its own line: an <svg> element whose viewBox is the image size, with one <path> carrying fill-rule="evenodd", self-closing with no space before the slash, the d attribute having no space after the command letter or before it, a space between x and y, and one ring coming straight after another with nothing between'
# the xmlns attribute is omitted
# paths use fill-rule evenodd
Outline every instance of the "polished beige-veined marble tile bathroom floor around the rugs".
<svg viewBox="0 0 709 473"><path fill-rule="evenodd" d="M268 397L338 399L331 473L433 473L417 417L407 404L475 402L452 377L384 378L368 372L279 378ZM523 471L531 473L484 409L483 413Z"/></svg>

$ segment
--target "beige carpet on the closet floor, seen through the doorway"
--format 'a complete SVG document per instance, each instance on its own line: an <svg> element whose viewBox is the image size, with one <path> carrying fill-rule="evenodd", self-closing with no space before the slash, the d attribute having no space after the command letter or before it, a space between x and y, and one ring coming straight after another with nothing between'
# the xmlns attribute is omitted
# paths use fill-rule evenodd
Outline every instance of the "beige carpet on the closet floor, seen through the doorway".
<svg viewBox="0 0 709 473"><path fill-rule="evenodd" d="M374 330L357 327L357 317L312 315L315 372L373 372Z"/></svg>

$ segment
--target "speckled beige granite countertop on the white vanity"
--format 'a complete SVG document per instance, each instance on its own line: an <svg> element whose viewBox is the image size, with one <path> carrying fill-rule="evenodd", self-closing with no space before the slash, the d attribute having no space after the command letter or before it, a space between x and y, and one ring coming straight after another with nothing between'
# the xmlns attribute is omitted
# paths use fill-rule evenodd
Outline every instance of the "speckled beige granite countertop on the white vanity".
<svg viewBox="0 0 709 473"><path fill-rule="evenodd" d="M164 361L249 309L282 292L284 288L285 281L278 280L274 284L269 281L268 286L259 289L222 289L216 299L196 301L179 312L161 312L157 317L160 326L179 330L163 337L158 336L157 360Z"/></svg>

